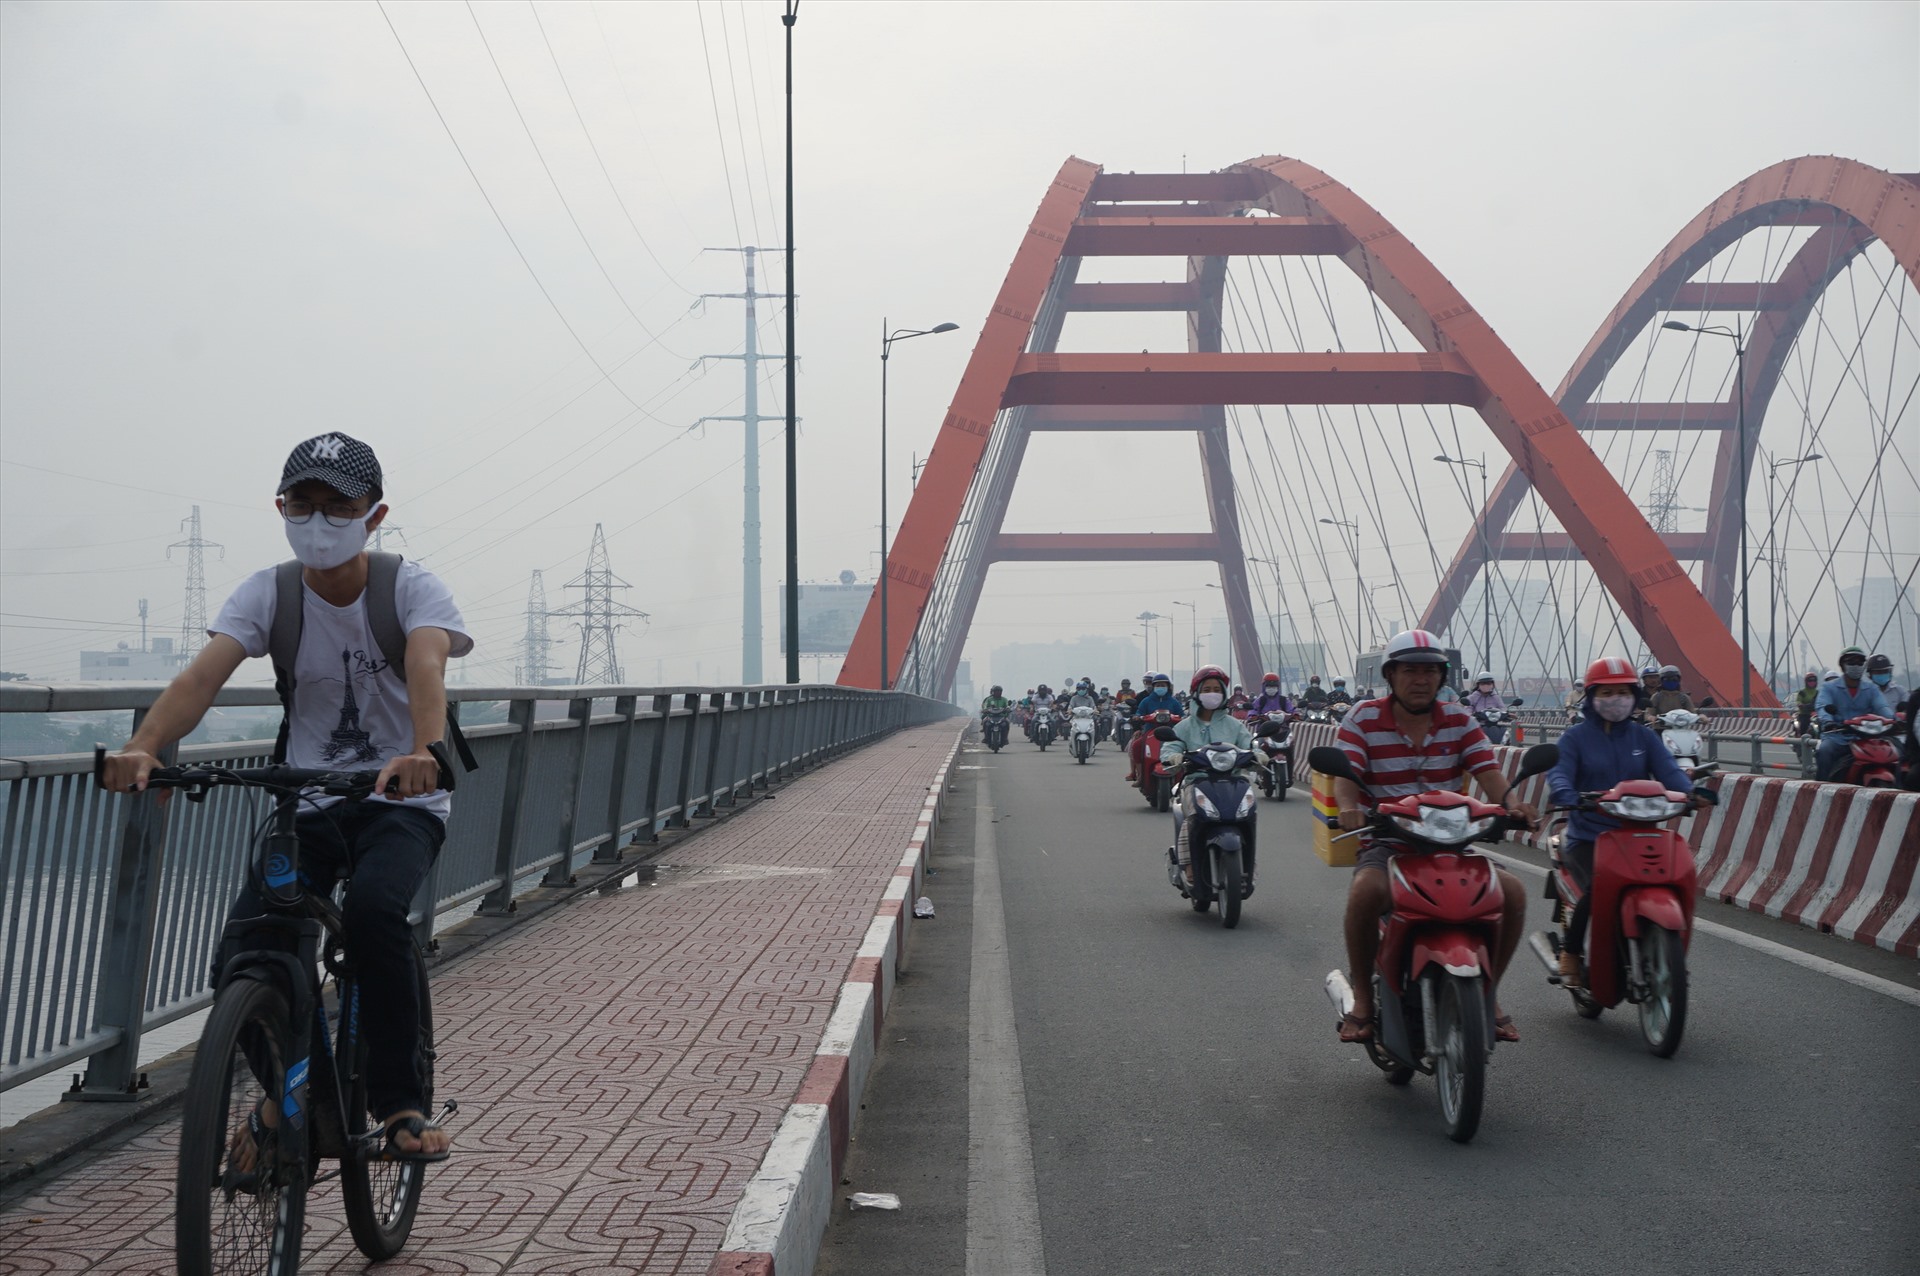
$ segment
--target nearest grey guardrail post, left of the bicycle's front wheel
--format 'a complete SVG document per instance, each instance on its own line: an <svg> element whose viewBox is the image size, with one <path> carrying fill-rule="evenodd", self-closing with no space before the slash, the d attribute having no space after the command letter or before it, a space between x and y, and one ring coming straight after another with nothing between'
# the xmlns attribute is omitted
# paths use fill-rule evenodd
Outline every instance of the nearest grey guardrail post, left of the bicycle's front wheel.
<svg viewBox="0 0 1920 1276"><path fill-rule="evenodd" d="M146 710L136 710L140 729ZM179 746L159 754L173 766ZM140 1098L140 1030L146 1025L146 979L154 961L154 921L159 911L159 856L167 844L167 808L157 794L123 798L121 854L113 863L113 906L108 911L108 946L100 961L94 1028L117 1028L119 1040L88 1055L86 1078L61 1098L79 1101L131 1101Z"/></svg>

